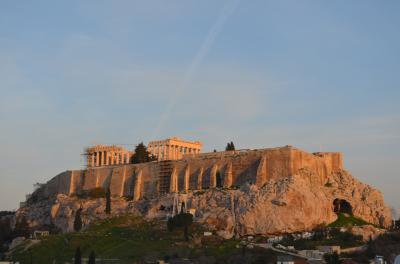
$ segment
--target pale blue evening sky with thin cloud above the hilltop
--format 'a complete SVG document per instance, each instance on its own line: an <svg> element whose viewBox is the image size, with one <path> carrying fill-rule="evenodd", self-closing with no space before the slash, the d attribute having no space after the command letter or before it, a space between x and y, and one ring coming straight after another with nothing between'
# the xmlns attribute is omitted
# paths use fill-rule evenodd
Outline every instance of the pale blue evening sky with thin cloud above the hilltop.
<svg viewBox="0 0 400 264"><path fill-rule="evenodd" d="M341 151L400 208L400 2L0 1L0 210L83 148Z"/></svg>

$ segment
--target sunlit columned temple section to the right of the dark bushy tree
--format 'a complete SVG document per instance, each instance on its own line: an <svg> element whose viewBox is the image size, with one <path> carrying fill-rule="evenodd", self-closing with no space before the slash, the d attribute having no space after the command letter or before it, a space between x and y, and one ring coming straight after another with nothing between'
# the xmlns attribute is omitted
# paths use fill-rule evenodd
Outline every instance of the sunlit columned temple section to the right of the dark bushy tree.
<svg viewBox="0 0 400 264"><path fill-rule="evenodd" d="M148 145L150 154L157 160L178 160L183 156L200 154L202 143L200 141L186 141L177 137L165 140L151 141Z"/></svg>

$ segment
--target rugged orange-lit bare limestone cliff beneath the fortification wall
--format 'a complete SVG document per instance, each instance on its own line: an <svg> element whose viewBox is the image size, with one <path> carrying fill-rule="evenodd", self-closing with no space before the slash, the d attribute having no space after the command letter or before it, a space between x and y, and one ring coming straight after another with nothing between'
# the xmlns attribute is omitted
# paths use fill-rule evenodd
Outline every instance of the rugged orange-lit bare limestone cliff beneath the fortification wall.
<svg viewBox="0 0 400 264"><path fill-rule="evenodd" d="M335 199L349 203L356 217L376 225L390 225L391 212L382 194L344 170L331 174L325 183L315 171L301 169L293 176L269 180L262 187L245 184L240 189L171 193L139 201L113 198L111 208L112 216L132 213L165 219L174 211L174 205L183 203L185 208L195 209L195 221L231 238L297 232L329 224L337 218ZM104 213L104 198L81 200L63 194L21 208L17 217L25 215L32 226L54 225L69 232L79 208L84 226L109 217Z"/></svg>

